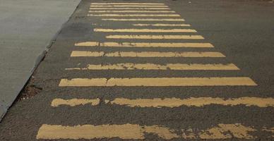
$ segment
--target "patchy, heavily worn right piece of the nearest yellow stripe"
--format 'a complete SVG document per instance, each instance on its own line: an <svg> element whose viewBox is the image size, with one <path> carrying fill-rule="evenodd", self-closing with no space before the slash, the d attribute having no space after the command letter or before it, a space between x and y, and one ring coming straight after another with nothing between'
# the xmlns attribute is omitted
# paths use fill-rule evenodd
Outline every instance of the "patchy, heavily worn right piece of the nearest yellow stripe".
<svg viewBox="0 0 274 141"><path fill-rule="evenodd" d="M201 139L229 139L232 137L240 139L254 139L254 136L249 135L249 132L254 132L256 129L246 127L242 124L218 124L218 127L203 130L200 133Z"/></svg>

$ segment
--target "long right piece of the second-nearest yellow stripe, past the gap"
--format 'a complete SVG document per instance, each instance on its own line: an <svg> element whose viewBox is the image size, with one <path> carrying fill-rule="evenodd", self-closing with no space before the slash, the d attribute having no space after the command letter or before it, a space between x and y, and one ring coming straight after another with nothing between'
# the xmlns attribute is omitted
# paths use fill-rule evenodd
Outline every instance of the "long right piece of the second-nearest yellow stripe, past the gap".
<svg viewBox="0 0 274 141"><path fill-rule="evenodd" d="M205 106L210 104L218 104L223 106L258 106L258 107L274 107L274 98L261 97L239 97L232 99L213 98L213 97L191 97L189 99L178 98L155 98L155 99L124 99L116 98L110 102L111 104L125 105L131 107L178 107L178 106Z"/></svg>

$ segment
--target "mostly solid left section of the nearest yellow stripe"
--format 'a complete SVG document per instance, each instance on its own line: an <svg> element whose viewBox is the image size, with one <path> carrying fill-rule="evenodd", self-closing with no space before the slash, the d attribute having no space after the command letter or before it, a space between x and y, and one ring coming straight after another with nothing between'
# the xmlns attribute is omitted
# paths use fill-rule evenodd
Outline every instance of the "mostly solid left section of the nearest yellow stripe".
<svg viewBox="0 0 274 141"><path fill-rule="evenodd" d="M157 125L141 126L135 124L124 125L47 125L43 124L38 130L37 139L94 139L119 137L124 140L143 140L146 133L153 133L165 140L177 138L169 128Z"/></svg>

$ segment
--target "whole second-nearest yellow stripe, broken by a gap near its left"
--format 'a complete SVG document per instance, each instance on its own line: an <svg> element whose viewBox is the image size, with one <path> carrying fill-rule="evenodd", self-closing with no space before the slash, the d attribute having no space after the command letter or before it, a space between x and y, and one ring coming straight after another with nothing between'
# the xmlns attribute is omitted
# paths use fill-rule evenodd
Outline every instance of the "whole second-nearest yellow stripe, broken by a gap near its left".
<svg viewBox="0 0 274 141"><path fill-rule="evenodd" d="M220 97L190 97L188 99L179 98L154 98L154 99L126 99L115 98L113 100L105 99L102 102L105 104L117 104L129 107L153 107L153 108L174 108L179 106L197 106L203 107L207 105L220 105L220 106L258 106L261 108L274 107L274 98L262 97L239 97L239 98L220 98ZM90 106L97 106L100 99L53 99L52 106L78 106L88 104Z"/></svg>

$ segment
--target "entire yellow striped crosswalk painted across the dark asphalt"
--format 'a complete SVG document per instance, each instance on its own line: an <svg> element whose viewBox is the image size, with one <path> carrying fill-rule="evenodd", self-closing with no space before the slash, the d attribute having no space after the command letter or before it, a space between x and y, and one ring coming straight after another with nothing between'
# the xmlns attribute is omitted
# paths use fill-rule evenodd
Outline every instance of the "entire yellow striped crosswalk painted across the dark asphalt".
<svg viewBox="0 0 274 141"><path fill-rule="evenodd" d="M165 63L147 62L147 59L225 59L225 55L212 51L214 45L203 42L205 39L198 35L197 30L184 23L179 14L162 3L91 3L87 13L88 18L100 18L102 22L113 24L124 23L124 28L105 28L98 25L93 29L94 34L102 34L111 42L89 41L75 42L75 49L71 51L71 59L93 59L100 57L115 57L123 59L121 63L101 64L88 63L86 66L65 68L65 71L240 71L234 63ZM170 33L176 33L170 34ZM126 40L126 42L125 42ZM176 40L176 41L175 41ZM174 42L175 41L175 42ZM197 42L198 41L198 42ZM106 49L119 51L105 51ZM89 51L92 49L92 51ZM103 50L105 49L105 50ZM130 50L133 49L133 50ZM136 50L137 49L137 50ZM146 50L152 49L152 50ZM163 51L161 49L172 49ZM181 49L196 49L196 51L181 51ZM203 50L199 50L203 49ZM208 49L208 50L207 50ZM211 49L211 50L209 50ZM127 59L141 59L145 63L127 62ZM111 75L111 73L110 73ZM138 74L137 74L138 75ZM59 87L256 87L256 82L246 76L203 76L203 77L133 77L133 78L62 78ZM255 106L259 108L273 108L272 97L154 97L130 99L115 97L114 99L52 99L52 108L70 106L124 106L129 108L162 109L186 106L201 108L208 105L218 106ZM96 114L96 113L95 113ZM38 140L59 139L111 139L118 137L121 140L144 140L146 134L157 135L162 140L172 139L245 139L254 140L256 132L266 132L274 135L273 128L255 128L242 123L219 123L210 128L195 129L169 128L163 125L138 125L133 123L103 124L103 125L49 125L43 124L37 132Z"/></svg>

